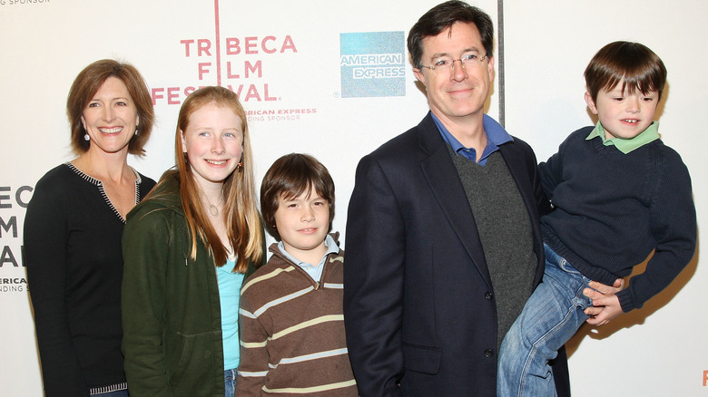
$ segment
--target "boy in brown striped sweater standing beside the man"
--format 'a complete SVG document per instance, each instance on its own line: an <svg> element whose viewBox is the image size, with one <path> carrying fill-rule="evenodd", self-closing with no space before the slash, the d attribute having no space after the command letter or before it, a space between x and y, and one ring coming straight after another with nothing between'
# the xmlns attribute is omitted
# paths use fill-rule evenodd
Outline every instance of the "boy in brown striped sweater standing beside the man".
<svg viewBox="0 0 708 397"><path fill-rule="evenodd" d="M306 154L276 160L261 184L261 213L280 242L241 288L236 395L357 396L344 334L344 251L339 234L328 234L328 170Z"/></svg>

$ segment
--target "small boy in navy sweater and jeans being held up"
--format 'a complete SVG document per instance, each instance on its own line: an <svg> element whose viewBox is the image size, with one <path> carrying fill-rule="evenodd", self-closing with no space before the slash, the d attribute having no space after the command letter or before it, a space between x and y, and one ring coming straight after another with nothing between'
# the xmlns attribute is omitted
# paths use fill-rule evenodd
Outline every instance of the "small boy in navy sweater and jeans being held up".
<svg viewBox="0 0 708 397"><path fill-rule="evenodd" d="M691 261L691 178L654 121L665 81L661 59L636 43L605 45L585 69L585 101L599 121L539 165L555 208L541 218L546 272L502 344L497 395L555 395L548 360L580 325L642 307ZM597 287L590 280L612 286L629 276L652 250L626 289L595 300L583 294Z"/></svg>

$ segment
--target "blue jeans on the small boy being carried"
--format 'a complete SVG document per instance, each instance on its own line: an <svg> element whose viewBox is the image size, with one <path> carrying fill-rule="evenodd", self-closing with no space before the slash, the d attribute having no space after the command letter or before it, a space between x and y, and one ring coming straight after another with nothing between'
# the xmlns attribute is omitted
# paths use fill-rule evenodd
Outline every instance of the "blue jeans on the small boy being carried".
<svg viewBox="0 0 708 397"><path fill-rule="evenodd" d="M504 337L499 352L497 396L555 396L549 360L585 323L592 300L583 295L590 279L544 245L543 283Z"/></svg>

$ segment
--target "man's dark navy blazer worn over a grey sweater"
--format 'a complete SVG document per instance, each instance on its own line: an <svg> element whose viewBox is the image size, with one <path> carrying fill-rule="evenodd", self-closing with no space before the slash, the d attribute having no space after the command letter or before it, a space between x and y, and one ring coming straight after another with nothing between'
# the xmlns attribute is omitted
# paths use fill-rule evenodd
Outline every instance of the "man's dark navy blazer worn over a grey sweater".
<svg viewBox="0 0 708 397"><path fill-rule="evenodd" d="M533 228L543 276L536 156L499 146ZM344 273L347 343L360 395L494 396L497 309L475 219L431 115L359 161ZM565 352L556 382L569 395ZM565 391L567 389L567 391Z"/></svg>

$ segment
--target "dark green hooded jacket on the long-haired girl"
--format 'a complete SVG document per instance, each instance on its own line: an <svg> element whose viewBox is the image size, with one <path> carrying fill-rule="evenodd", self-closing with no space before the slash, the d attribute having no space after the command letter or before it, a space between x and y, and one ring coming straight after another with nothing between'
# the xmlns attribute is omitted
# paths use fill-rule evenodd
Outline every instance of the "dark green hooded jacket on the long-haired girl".
<svg viewBox="0 0 708 397"><path fill-rule="evenodd" d="M189 255L191 237L178 180L167 179L155 189L160 196L133 208L123 231L128 390L131 397L223 397L221 305L214 261L202 241L197 242L196 260ZM265 261L265 243L263 252ZM247 276L253 270L250 263Z"/></svg>

